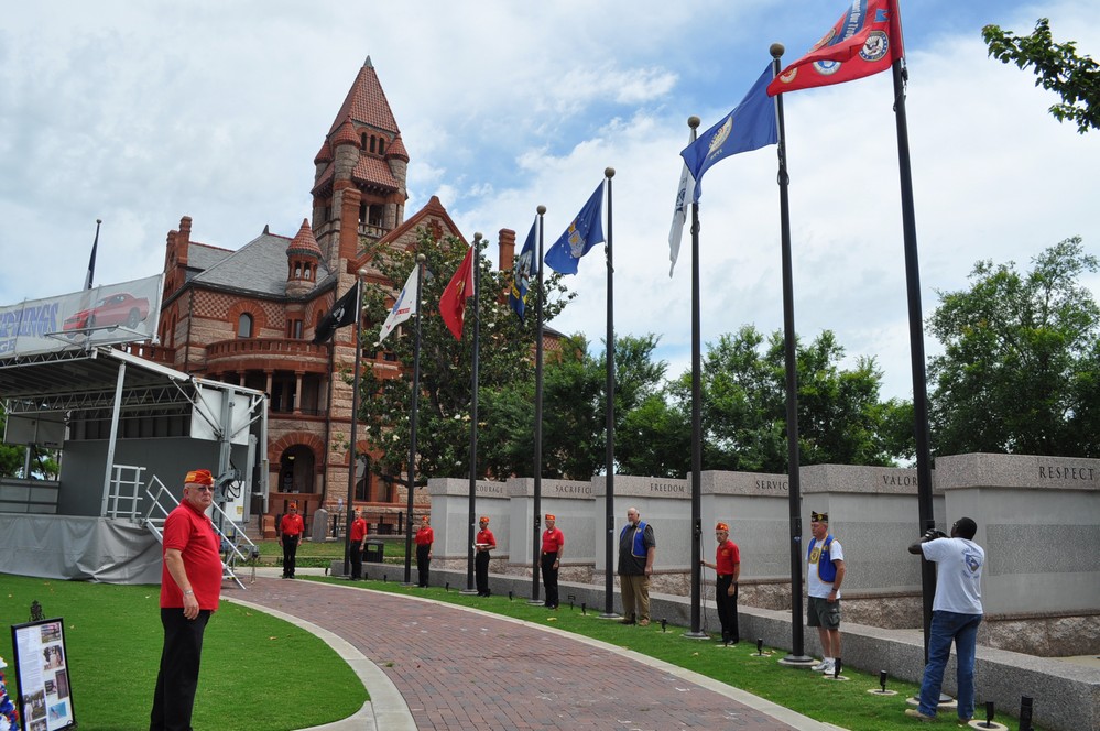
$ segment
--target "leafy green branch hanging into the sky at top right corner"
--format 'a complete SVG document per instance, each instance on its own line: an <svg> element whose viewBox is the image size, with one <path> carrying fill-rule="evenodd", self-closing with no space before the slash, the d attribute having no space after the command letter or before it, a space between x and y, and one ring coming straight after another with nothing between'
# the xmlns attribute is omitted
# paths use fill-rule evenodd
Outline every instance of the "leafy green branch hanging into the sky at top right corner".
<svg viewBox="0 0 1100 731"><path fill-rule="evenodd" d="M1078 56L1072 41L1055 43L1048 19L1041 18L1031 35L1015 35L998 25L987 25L981 35L990 56L1020 68L1033 66L1038 77L1035 86L1061 97L1061 103L1049 110L1055 119L1077 122L1081 134L1100 128L1100 65L1089 56Z"/></svg>

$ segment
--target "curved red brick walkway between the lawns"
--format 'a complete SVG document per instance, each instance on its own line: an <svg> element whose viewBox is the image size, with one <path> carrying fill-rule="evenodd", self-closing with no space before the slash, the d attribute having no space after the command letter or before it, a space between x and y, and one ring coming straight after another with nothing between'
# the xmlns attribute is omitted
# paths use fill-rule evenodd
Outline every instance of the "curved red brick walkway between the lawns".
<svg viewBox="0 0 1100 731"><path fill-rule="evenodd" d="M350 643L389 677L421 730L832 728L633 653L450 604L270 578L225 593Z"/></svg>

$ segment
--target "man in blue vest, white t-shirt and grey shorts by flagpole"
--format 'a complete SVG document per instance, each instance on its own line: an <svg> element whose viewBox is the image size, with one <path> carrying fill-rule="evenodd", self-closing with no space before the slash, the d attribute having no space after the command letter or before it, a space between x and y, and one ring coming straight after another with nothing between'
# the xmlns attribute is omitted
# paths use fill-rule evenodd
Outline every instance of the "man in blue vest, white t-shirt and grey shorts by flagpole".
<svg viewBox="0 0 1100 731"><path fill-rule="evenodd" d="M840 659L840 585L845 581L845 549L829 533L829 514L812 512L814 538L806 550L806 624L817 628L821 662L809 668L826 675Z"/></svg>

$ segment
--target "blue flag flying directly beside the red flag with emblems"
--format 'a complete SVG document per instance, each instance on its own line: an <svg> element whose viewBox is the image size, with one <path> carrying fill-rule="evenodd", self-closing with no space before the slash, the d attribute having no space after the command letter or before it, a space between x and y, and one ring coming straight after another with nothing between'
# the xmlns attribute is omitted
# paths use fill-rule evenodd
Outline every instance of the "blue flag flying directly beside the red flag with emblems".
<svg viewBox="0 0 1100 731"><path fill-rule="evenodd" d="M741 103L679 153L695 177L696 200L703 195L703 174L719 160L778 142L775 102L767 96L771 80L769 64Z"/></svg>

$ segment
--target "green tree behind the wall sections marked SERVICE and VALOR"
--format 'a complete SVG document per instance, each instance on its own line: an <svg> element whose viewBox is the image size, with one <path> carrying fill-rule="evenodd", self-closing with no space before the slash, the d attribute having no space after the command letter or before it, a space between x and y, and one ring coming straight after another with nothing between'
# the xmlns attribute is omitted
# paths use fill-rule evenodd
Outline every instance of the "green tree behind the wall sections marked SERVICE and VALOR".
<svg viewBox="0 0 1100 731"><path fill-rule="evenodd" d="M892 465L912 451L898 429L905 404L880 402L882 373L860 358L841 369L845 349L831 331L809 346L796 342L798 449L803 465ZM676 385L690 408L690 373ZM787 470L786 377L783 336L765 341L751 325L708 347L703 372L704 468L751 472ZM912 428L910 428L912 433Z"/></svg>

